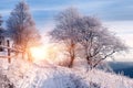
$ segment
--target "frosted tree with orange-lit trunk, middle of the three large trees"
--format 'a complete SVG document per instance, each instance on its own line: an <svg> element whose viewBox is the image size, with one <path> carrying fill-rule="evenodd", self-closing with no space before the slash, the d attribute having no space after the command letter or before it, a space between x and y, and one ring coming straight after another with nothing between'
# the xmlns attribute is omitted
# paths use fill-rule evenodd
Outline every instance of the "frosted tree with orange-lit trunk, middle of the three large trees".
<svg viewBox="0 0 133 88"><path fill-rule="evenodd" d="M69 67L72 67L73 61L75 58L75 46L78 43L78 30L74 24L80 14L76 9L69 8L60 12L55 18L57 25L55 29L50 33L53 38L62 41L66 46L66 52L69 53L70 63Z"/></svg>

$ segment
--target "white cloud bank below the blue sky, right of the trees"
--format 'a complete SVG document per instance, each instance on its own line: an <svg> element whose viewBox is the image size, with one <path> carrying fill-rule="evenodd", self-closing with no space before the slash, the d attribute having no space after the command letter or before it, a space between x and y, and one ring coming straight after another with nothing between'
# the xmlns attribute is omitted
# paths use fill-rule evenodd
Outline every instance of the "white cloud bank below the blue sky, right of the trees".
<svg viewBox="0 0 133 88"><path fill-rule="evenodd" d="M104 22L103 25L110 31L115 32L116 35L130 47L133 47L133 21L110 21Z"/></svg>

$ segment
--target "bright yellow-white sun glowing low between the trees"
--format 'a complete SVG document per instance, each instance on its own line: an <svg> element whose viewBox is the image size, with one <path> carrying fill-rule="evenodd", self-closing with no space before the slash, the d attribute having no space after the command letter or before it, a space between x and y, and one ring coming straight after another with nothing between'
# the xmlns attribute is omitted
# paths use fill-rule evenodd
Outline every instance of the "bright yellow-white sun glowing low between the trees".
<svg viewBox="0 0 133 88"><path fill-rule="evenodd" d="M41 61L54 62L58 51L59 50L55 48L52 44L45 44L43 46L35 46L30 48L32 61L34 63Z"/></svg>

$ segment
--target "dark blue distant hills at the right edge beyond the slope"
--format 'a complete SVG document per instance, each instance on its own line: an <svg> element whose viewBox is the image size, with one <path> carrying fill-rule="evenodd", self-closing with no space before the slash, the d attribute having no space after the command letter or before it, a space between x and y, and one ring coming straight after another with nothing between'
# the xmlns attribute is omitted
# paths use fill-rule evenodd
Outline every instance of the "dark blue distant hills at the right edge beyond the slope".
<svg viewBox="0 0 133 88"><path fill-rule="evenodd" d="M133 78L133 62L109 62L109 65L116 74Z"/></svg>

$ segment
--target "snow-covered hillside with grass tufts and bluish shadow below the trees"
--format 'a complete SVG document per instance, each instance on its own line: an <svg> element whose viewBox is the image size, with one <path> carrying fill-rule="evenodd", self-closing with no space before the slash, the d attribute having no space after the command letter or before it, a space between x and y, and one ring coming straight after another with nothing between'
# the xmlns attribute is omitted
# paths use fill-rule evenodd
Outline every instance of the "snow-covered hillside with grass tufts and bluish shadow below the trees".
<svg viewBox="0 0 133 88"><path fill-rule="evenodd" d="M133 88L133 79L105 73L16 61L4 74L16 88Z"/></svg>

